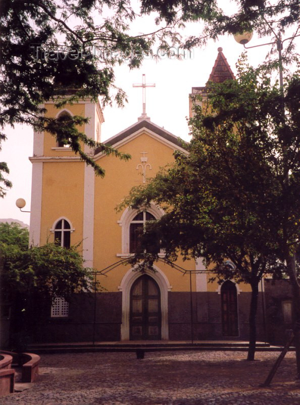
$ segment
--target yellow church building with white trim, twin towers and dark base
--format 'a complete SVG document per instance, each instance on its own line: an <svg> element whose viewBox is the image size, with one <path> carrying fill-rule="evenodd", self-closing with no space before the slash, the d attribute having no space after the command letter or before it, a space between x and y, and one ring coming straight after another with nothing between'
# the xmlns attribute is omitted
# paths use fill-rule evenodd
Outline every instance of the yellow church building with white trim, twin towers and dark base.
<svg viewBox="0 0 300 405"><path fill-rule="evenodd" d="M219 48L209 79L222 82L227 78L234 75ZM144 80L141 87L145 90ZM191 94L205 96L205 89L193 87ZM54 103L47 102L44 107L52 117L89 117L81 130L101 141L104 116L99 103L81 100L57 110ZM117 212L115 208L133 186L145 183L171 163L174 150L188 153L180 140L153 123L143 105L137 122L106 144L129 153L131 159L120 160L85 147L106 171L100 178L50 134L34 134L30 241L40 246L59 240L66 248L82 242L85 265L96 269L97 281L104 288L101 293L75 294L70 302L57 297L53 305L48 303L36 343L246 340L250 286L233 280L222 285L209 282L211 275L201 258L185 262L179 258L176 268L158 261L156 272L143 274L123 263L135 252L145 222L163 211L155 205L141 212L129 208ZM262 289L263 283L257 316L258 338L263 340Z"/></svg>

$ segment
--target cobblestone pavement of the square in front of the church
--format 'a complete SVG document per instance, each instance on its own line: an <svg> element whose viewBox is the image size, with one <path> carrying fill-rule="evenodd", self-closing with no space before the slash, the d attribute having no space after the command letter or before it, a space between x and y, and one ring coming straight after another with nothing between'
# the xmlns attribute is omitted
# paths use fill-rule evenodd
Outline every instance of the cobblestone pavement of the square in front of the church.
<svg viewBox="0 0 300 405"><path fill-rule="evenodd" d="M278 352L78 353L41 356L39 379L1 405L299 405L295 354L260 388Z"/></svg>

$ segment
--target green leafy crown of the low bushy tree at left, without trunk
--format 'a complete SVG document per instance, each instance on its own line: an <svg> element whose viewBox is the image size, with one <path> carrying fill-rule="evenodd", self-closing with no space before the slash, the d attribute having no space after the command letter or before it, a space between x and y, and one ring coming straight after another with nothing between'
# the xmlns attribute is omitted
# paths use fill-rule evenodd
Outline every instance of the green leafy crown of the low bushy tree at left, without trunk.
<svg viewBox="0 0 300 405"><path fill-rule="evenodd" d="M83 267L77 250L47 243L28 248L28 230L19 224L0 224L0 255L3 261L1 290L3 297L44 299L65 297L89 291L92 270Z"/></svg>

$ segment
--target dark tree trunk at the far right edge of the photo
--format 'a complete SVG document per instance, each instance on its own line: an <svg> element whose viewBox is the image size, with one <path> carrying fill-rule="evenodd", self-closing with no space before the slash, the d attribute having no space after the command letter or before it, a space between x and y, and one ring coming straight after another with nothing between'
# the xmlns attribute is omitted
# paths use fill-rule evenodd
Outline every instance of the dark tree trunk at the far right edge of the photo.
<svg viewBox="0 0 300 405"><path fill-rule="evenodd" d="M300 378L300 286L296 276L295 256L286 259L289 280L293 294L293 332L296 349L297 378Z"/></svg>

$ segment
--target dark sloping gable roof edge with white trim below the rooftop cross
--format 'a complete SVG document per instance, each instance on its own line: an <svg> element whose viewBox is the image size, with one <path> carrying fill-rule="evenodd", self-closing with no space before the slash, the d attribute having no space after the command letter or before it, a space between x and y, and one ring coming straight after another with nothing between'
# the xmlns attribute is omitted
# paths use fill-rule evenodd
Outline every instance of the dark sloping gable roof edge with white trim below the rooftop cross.
<svg viewBox="0 0 300 405"><path fill-rule="evenodd" d="M113 136L112 138L108 139L107 141L105 141L104 144L109 145L109 146L115 146L122 141L124 142L124 140L126 138L129 138L131 135L135 134L136 132L139 132L142 129L155 133L158 137L161 137L165 141L172 143L177 148L186 149L186 147L184 147L184 145L182 144L180 138L178 138L177 136L171 134L171 132L166 131L164 128L159 127L158 125L156 125L146 119L138 121L137 123L133 124L131 127L128 127L124 131L119 132L119 134L117 134L117 135ZM97 153L99 153L101 151L102 151L102 149L101 149L101 147L99 147L99 148L95 149L94 154L96 155Z"/></svg>

